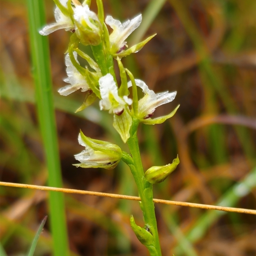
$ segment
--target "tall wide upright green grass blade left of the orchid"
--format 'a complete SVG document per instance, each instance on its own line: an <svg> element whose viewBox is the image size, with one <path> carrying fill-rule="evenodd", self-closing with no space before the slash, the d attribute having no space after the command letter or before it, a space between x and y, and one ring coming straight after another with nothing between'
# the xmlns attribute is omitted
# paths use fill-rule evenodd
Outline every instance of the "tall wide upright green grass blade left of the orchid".
<svg viewBox="0 0 256 256"><path fill-rule="evenodd" d="M48 168L48 185L51 187L62 187L48 39L38 33L38 30L45 25L44 2L42 0L27 0L27 3L30 47L33 61L32 70L34 71L38 118ZM64 196L58 192L50 192L49 199L49 217L52 229L54 255L67 256L68 236Z"/></svg>

